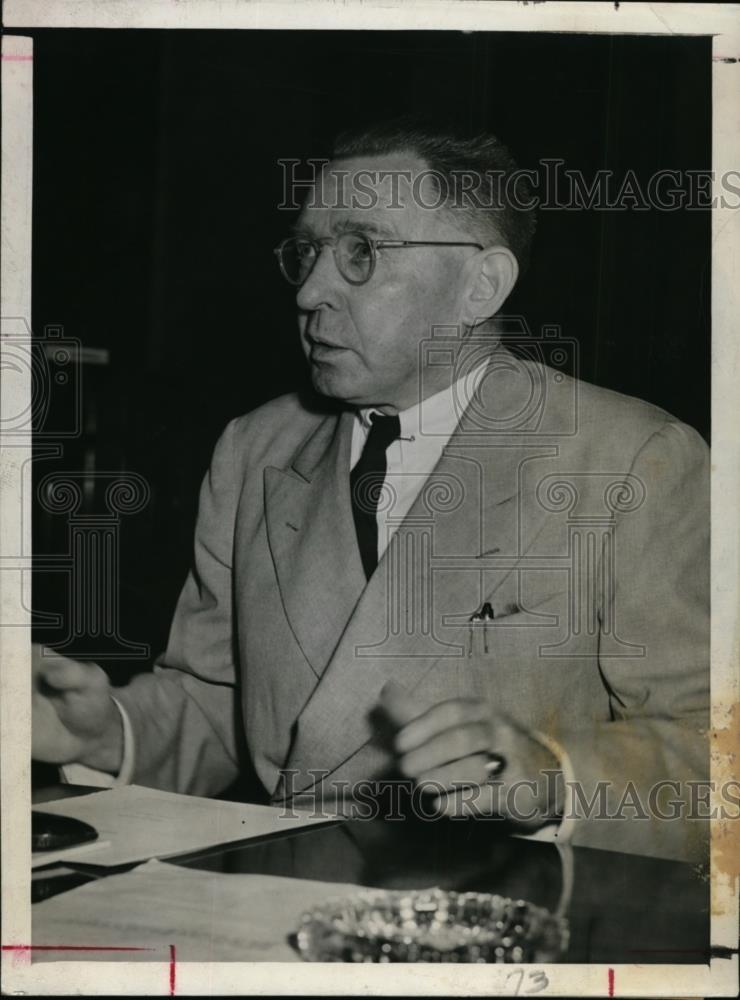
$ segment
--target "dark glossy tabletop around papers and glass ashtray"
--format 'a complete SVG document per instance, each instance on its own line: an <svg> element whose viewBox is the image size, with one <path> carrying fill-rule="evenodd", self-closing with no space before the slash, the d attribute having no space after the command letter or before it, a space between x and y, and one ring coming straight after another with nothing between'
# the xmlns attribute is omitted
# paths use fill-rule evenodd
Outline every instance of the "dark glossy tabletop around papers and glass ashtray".
<svg viewBox="0 0 740 1000"><path fill-rule="evenodd" d="M47 790L34 800L53 797L60 795ZM571 860L570 946L563 961L708 961L709 879L701 867L582 847L572 849ZM495 892L551 910L563 887L554 844L508 836L499 823L480 819L350 820L170 863L388 889ZM71 893L76 884L70 882Z"/></svg>

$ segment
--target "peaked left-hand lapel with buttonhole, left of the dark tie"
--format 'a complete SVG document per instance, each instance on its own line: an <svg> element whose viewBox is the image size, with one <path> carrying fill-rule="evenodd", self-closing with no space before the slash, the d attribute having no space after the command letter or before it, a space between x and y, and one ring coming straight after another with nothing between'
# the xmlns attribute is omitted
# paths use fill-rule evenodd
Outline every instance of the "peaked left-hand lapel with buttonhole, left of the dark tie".
<svg viewBox="0 0 740 1000"><path fill-rule="evenodd" d="M265 469L267 533L285 612L321 676L365 587L349 496L351 412L327 417L290 469Z"/></svg>

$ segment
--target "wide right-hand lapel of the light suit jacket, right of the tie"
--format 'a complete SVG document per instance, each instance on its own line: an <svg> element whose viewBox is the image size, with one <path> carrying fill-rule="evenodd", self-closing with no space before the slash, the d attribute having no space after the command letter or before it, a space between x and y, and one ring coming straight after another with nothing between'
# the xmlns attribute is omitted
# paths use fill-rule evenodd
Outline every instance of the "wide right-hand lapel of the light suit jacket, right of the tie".
<svg viewBox="0 0 740 1000"><path fill-rule="evenodd" d="M518 412L532 390L530 377L510 370L499 383L488 386L492 418ZM364 592L352 592L357 606L298 717L286 763L298 772L296 791L315 783L310 769L333 771L372 739L371 712L386 681L413 690L440 658L462 662L470 614L523 555L517 494L533 443L492 435L471 407L463 414ZM490 568L491 554L500 569ZM481 556L486 567L476 564Z"/></svg>

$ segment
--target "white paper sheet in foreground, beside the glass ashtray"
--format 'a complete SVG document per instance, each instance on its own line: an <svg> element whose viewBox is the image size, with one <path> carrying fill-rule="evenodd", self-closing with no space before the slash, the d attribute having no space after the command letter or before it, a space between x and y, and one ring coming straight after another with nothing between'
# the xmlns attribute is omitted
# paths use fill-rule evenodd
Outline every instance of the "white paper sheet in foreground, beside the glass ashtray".
<svg viewBox="0 0 740 1000"><path fill-rule="evenodd" d="M339 882L196 871L149 861L33 907L34 962L298 962L301 914L363 891ZM44 950L46 947L48 951ZM135 948L111 952L107 948ZM101 950L95 950L101 949Z"/></svg>

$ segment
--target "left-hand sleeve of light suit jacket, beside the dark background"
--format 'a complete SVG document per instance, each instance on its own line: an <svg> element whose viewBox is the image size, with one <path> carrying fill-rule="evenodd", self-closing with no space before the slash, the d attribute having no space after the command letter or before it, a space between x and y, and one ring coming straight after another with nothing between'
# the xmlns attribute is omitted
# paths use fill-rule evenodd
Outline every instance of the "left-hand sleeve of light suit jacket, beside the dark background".
<svg viewBox="0 0 740 1000"><path fill-rule="evenodd" d="M243 726L232 628L234 424L200 491L195 552L153 673L116 691L131 721L137 784L213 795L239 773Z"/></svg>

